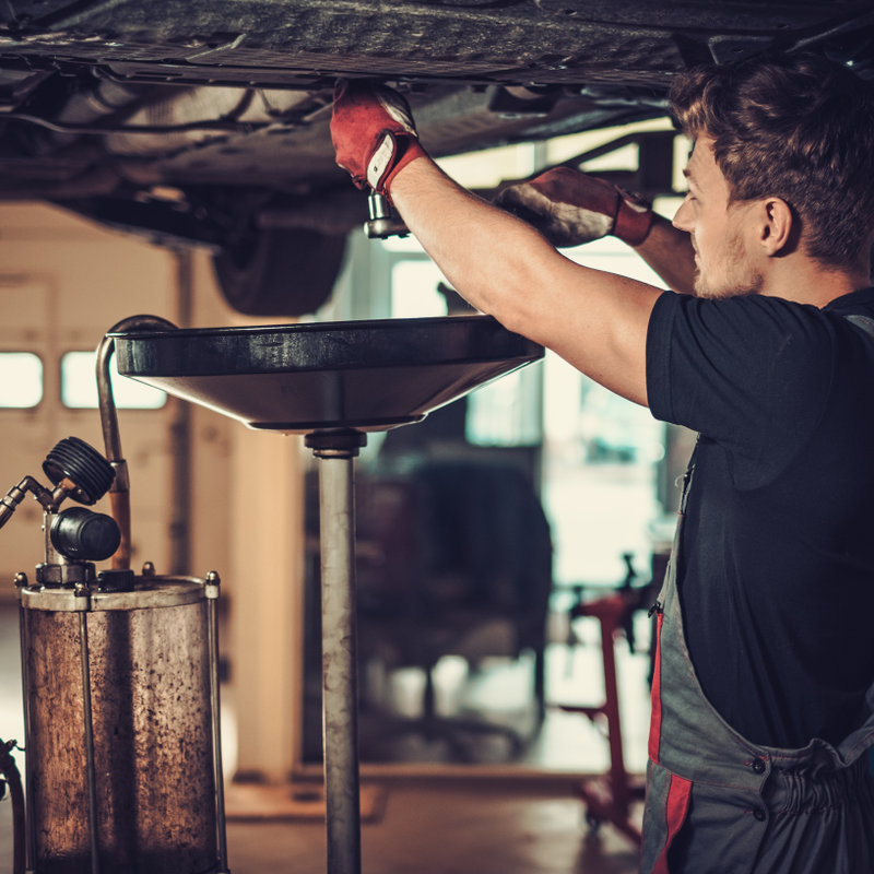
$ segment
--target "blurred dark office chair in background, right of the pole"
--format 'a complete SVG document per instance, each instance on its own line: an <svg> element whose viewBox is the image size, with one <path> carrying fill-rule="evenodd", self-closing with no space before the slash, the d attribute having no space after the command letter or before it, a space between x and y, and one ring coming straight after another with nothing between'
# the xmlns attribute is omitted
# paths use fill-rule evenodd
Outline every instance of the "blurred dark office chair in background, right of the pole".
<svg viewBox="0 0 874 874"><path fill-rule="evenodd" d="M517 729L438 714L433 673L444 656L476 664L531 650L543 720L552 540L529 479L504 462L421 460L403 476L359 477L357 525L359 663L425 675L421 716L380 731L441 737L461 755L471 733L498 733L520 752Z"/></svg>

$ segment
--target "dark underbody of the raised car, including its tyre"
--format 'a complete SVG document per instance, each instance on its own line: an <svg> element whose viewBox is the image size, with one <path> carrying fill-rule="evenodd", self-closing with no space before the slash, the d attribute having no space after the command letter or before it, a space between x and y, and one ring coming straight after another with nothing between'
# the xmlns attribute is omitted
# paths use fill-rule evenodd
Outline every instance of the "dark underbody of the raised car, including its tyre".
<svg viewBox="0 0 874 874"><path fill-rule="evenodd" d="M402 90L441 156L662 117L677 72L775 49L825 51L874 79L874 10L869 0L8 0L0 198L210 246L223 284L244 290L232 305L270 314L290 296L262 299L255 286L295 267L264 246L294 239L339 261L363 218L330 145L338 78ZM642 193L662 193L661 181L647 185ZM272 261L255 276L259 259ZM330 285L336 264L315 267L311 281L321 273Z"/></svg>

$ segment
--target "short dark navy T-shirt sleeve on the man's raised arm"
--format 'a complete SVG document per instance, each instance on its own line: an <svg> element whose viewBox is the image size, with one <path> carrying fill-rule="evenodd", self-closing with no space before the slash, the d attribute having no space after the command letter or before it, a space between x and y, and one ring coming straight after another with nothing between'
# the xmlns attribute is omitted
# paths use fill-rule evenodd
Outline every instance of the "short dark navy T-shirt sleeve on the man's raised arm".
<svg viewBox="0 0 874 874"><path fill-rule="evenodd" d="M737 484L760 485L823 415L835 371L834 318L761 295L663 294L647 334L653 416L721 444Z"/></svg>

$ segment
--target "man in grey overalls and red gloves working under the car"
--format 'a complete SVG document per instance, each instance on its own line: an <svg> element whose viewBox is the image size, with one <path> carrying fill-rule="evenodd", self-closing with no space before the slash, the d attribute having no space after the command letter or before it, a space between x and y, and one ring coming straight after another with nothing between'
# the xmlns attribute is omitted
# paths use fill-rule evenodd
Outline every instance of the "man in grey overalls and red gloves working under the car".
<svg viewBox="0 0 874 874"><path fill-rule="evenodd" d="M656 605L641 870L872 871L874 96L807 55L680 74L671 104L694 143L673 224L568 168L477 199L369 83L339 83L331 131L473 306L699 433ZM671 291L555 248L606 234Z"/></svg>

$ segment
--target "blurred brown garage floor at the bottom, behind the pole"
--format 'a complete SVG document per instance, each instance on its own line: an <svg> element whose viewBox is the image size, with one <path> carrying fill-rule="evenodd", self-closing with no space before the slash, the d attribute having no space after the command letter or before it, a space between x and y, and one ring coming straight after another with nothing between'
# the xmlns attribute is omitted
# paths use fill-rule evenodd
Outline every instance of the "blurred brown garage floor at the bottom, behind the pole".
<svg viewBox="0 0 874 874"><path fill-rule="evenodd" d="M0 803L0 874L12 874L11 815ZM233 874L326 871L320 822L229 823ZM588 834L569 792L494 783L403 780L385 815L362 827L367 874L631 874L637 854L609 827Z"/></svg>

